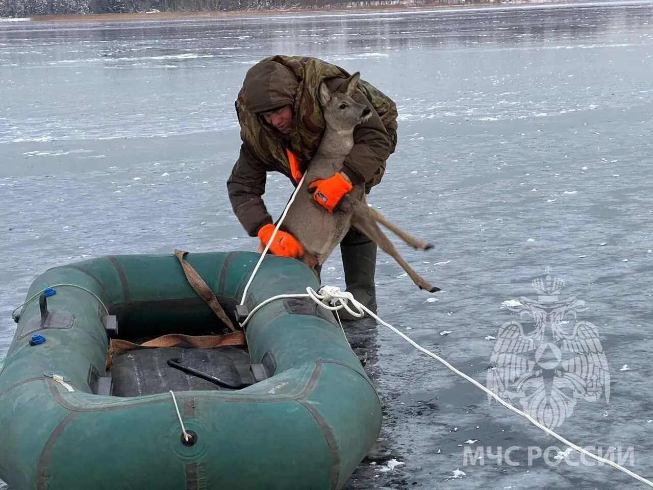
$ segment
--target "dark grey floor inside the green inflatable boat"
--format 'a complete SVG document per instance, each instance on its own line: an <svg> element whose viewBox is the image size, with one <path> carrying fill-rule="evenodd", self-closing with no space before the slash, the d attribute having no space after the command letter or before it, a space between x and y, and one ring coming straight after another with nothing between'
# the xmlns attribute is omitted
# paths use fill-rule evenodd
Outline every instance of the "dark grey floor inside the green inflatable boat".
<svg viewBox="0 0 653 490"><path fill-rule="evenodd" d="M170 367L168 360L177 359L184 367L199 370L236 387L254 382L246 348L220 346L212 349L160 347L135 349L114 355L110 375L113 395L140 397L156 393L187 390L229 390L195 374Z"/></svg>

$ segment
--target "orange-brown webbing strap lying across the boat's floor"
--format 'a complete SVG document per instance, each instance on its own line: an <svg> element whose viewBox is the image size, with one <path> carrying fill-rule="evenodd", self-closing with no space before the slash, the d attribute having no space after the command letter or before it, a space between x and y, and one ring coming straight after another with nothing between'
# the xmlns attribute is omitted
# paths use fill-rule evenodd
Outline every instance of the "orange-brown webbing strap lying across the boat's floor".
<svg viewBox="0 0 653 490"><path fill-rule="evenodd" d="M180 344L183 344L185 347L196 349L211 349L218 346L245 346L247 345L247 340L243 332L230 332L225 333L224 335L200 336L171 333L161 337L153 338L152 340L148 340L142 344L134 344L133 342L128 342L127 340L112 338L109 344L109 350L106 354L106 368L108 369L112 367L112 356L120 352L153 347L175 347L179 346Z"/></svg>

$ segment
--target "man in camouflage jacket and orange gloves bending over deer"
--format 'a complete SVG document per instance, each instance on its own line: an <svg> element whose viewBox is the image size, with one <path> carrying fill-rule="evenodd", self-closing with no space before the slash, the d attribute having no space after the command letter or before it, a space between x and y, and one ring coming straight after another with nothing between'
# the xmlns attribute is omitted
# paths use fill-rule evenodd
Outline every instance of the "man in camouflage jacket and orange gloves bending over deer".
<svg viewBox="0 0 653 490"><path fill-rule="evenodd" d="M229 199L236 217L250 237L267 244L274 231L261 196L266 172L288 176L296 186L315 154L325 122L317 90L325 80L331 91L345 91L349 76L342 68L314 57L272 56L247 71L236 100L240 123L240 157L227 180ZM317 203L332 212L352 185L365 184L366 192L381 182L386 160L397 141L397 109L394 102L371 84L360 81L353 98L372 110L372 117L355 129L354 146L342 172L310 182ZM319 193L321 199L315 198ZM270 252L298 257L301 244L279 230ZM340 243L347 291L373 312L377 310L374 287L377 247L356 229ZM354 319L345 310L343 319Z"/></svg>

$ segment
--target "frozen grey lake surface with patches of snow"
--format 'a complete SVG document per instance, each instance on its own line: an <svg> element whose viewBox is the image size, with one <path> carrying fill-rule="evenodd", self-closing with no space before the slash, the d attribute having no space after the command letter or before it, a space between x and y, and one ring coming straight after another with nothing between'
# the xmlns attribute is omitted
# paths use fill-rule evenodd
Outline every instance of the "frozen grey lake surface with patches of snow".
<svg viewBox="0 0 653 490"><path fill-rule="evenodd" d="M653 3L0 22L0 359L12 310L48 267L254 250L225 182L240 146L234 99L271 54L360 71L398 105L398 148L370 202L436 244L398 248L443 291L419 291L379 252L379 316L485 385L500 327L520 321L509 306L537 299L532 281L550 267L560 299L584 301L577 319L597 327L610 386L609 400L560 395L556 432L595 453L631 448L621 463L652 479ZM291 191L270 174L275 216ZM337 251L323 280L344 286ZM564 322L571 331L573 314ZM645 488L575 465L578 453L560 463L547 448L565 444L389 329L348 333L385 407L348 490ZM517 465L497 465L499 448ZM548 456L529 458L534 448ZM468 449L485 458L471 465Z"/></svg>

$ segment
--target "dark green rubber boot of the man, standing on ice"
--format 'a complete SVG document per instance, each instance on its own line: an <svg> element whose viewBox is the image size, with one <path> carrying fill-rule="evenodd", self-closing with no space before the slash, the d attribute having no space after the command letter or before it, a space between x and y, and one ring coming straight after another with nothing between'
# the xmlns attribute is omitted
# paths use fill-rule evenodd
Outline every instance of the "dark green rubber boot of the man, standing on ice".
<svg viewBox="0 0 653 490"><path fill-rule="evenodd" d="M376 271L376 244L368 241L362 244L340 244L342 266L345 269L345 291L351 293L354 299L376 314L376 288L374 273ZM342 320L357 320L347 310L338 310ZM365 315L367 316L367 314ZM363 318L363 317L361 317Z"/></svg>

